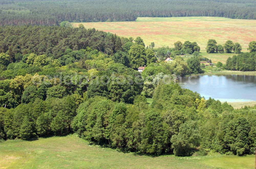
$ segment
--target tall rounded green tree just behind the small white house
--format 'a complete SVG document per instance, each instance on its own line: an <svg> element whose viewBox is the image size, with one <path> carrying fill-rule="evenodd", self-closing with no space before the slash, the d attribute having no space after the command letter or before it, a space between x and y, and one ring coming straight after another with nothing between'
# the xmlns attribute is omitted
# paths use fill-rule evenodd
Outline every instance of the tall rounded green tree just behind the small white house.
<svg viewBox="0 0 256 169"><path fill-rule="evenodd" d="M142 45L133 45L128 51L130 66L136 69L146 63L145 48Z"/></svg>

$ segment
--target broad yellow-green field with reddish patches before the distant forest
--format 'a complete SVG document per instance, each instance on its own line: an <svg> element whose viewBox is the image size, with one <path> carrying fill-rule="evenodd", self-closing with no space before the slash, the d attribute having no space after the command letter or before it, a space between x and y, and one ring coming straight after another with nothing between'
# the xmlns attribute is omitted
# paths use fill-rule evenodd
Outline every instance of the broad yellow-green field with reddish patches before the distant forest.
<svg viewBox="0 0 256 169"><path fill-rule="evenodd" d="M72 23L77 27L81 23ZM203 56L213 63L225 63L233 53L206 53L208 39L216 39L218 44L227 40L238 42L242 51L247 52L250 41L256 40L256 20L229 19L222 17L174 17L174 18L138 18L133 22L86 22L86 28L95 28L115 33L123 37L140 36L146 46L151 42L155 47L174 47L178 40L196 41Z"/></svg>

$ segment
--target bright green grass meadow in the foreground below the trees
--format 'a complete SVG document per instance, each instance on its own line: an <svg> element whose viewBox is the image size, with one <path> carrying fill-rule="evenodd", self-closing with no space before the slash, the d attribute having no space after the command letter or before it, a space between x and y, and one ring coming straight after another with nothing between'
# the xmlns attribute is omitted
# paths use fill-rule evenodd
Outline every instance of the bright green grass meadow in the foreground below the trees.
<svg viewBox="0 0 256 169"><path fill-rule="evenodd" d="M0 143L0 168L253 168L254 156L160 157L91 146L76 134Z"/></svg>

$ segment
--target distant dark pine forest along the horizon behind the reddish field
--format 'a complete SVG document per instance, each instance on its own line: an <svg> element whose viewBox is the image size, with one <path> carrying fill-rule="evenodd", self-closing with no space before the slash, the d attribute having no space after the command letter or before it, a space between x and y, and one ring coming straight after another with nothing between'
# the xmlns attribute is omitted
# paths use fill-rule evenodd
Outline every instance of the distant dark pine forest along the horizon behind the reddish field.
<svg viewBox="0 0 256 169"><path fill-rule="evenodd" d="M256 19L256 2L253 0L0 0L0 4L0 25L135 21L137 17L214 16Z"/></svg>

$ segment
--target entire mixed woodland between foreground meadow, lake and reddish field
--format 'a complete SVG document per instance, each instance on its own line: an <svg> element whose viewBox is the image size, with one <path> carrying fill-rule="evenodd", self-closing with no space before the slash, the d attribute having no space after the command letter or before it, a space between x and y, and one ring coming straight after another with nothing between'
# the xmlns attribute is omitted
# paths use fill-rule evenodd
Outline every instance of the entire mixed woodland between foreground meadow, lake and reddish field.
<svg viewBox="0 0 256 169"><path fill-rule="evenodd" d="M0 141L76 132L123 152L254 152L256 106L234 109L176 83L177 75L202 71L196 42L155 50L140 37L81 25L4 26L0 32ZM193 57L185 61L183 52ZM163 62L168 56L173 61Z"/></svg>

